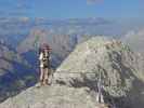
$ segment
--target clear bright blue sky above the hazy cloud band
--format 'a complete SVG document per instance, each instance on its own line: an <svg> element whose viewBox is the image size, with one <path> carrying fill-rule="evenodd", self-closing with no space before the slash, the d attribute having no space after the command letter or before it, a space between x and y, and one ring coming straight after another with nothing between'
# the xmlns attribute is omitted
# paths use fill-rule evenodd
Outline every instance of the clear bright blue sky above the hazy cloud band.
<svg viewBox="0 0 144 108"><path fill-rule="evenodd" d="M144 18L143 0L0 0L1 16Z"/></svg>

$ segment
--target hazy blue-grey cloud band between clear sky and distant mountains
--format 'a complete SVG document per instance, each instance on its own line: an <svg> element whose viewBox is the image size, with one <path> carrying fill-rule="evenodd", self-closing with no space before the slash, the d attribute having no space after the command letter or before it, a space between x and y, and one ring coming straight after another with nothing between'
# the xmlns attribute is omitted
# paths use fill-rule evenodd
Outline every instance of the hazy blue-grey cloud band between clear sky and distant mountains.
<svg viewBox="0 0 144 108"><path fill-rule="evenodd" d="M32 29L45 29L51 35L77 35L77 36L121 36L131 29L142 26L142 23L117 22L102 17L89 18L28 18L28 17L0 17L0 38L13 48L18 45Z"/></svg>

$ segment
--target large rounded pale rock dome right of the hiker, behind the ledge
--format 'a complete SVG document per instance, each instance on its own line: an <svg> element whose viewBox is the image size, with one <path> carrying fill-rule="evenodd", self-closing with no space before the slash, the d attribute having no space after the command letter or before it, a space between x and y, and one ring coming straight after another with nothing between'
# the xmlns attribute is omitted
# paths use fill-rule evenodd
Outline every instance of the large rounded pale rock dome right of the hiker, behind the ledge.
<svg viewBox="0 0 144 108"><path fill-rule="evenodd" d="M118 100L122 102L122 108L128 108L132 103L144 100L141 95L144 91L143 65L143 58L120 41L96 37L77 45L57 68L54 78L62 84L97 91L101 73L105 96L122 98Z"/></svg>

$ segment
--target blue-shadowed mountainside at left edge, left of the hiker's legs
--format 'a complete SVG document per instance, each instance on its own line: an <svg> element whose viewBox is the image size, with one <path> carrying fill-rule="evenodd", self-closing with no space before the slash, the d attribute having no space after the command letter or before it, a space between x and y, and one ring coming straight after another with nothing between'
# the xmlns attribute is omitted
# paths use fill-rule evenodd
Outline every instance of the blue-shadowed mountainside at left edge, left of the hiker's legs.
<svg viewBox="0 0 144 108"><path fill-rule="evenodd" d="M31 66L0 41L0 102L34 84L35 77Z"/></svg>

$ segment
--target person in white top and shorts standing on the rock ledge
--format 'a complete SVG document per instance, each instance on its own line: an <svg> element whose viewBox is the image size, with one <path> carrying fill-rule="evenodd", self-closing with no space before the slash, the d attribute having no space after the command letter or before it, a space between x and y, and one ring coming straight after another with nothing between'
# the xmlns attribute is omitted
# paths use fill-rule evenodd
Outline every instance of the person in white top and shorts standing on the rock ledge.
<svg viewBox="0 0 144 108"><path fill-rule="evenodd" d="M43 44L40 49L39 62L40 62L40 84L48 85L49 76L50 76L50 46L48 44Z"/></svg>

